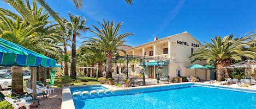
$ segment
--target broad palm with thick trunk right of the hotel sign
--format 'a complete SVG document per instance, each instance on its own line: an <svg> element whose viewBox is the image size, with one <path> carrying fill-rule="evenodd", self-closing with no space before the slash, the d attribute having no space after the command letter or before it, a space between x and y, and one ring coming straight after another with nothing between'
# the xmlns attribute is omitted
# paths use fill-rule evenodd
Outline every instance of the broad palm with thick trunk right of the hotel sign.
<svg viewBox="0 0 256 109"><path fill-rule="evenodd" d="M241 60L241 56L252 59L255 57L256 53L247 42L249 39L251 37L233 39L233 35L230 35L222 39L220 36L216 36L215 39L211 39L212 43L205 42L205 47L195 50L189 58L193 61L206 59L207 63L216 62L217 80L221 81L224 80L225 72L227 72L224 67L230 65L231 60ZM225 76L229 78L229 75Z"/></svg>

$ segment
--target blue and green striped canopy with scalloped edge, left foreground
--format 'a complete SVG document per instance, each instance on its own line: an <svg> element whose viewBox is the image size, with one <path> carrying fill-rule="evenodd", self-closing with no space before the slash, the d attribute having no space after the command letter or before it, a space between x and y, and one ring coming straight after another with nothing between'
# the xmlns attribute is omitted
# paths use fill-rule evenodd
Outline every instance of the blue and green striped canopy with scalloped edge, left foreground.
<svg viewBox="0 0 256 109"><path fill-rule="evenodd" d="M55 67L56 60L0 38L0 66Z"/></svg>

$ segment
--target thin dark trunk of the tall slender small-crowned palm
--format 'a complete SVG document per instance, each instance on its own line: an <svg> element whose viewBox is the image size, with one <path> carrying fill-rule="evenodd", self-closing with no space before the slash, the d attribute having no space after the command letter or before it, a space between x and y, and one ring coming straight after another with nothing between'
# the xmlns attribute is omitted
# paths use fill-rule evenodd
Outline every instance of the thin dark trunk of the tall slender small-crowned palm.
<svg viewBox="0 0 256 109"><path fill-rule="evenodd" d="M71 75L70 75L70 78L72 78L72 79L75 79L76 78L76 64L75 64L75 38L76 38L76 34L74 33L73 34L73 39L72 39L72 41L73 41L73 43L72 43L72 52L71 52L71 57L72 57L72 61L71 61L71 68L70 68L70 73L71 73Z"/></svg>

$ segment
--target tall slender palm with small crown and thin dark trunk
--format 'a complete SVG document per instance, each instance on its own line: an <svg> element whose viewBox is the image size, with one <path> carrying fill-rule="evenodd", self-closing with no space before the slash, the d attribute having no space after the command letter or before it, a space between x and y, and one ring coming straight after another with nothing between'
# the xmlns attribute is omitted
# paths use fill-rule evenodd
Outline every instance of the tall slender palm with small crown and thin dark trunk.
<svg viewBox="0 0 256 109"><path fill-rule="evenodd" d="M67 28L71 31L72 33L72 53L71 53L71 68L70 68L70 77L72 79L76 78L76 64L75 64L75 57L76 57L76 36L80 36L79 31L85 32L89 28L85 26L86 19L82 18L82 16L73 16L69 12L69 18L70 22L67 23Z"/></svg>

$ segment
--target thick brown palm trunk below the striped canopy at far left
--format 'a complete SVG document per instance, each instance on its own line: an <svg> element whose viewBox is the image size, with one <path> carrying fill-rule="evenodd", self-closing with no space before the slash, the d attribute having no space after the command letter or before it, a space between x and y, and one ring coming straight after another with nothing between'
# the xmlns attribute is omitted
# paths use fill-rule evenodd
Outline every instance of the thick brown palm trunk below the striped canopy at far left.
<svg viewBox="0 0 256 109"><path fill-rule="evenodd" d="M11 79L11 89L17 94L23 93L22 67L11 67L13 78Z"/></svg>

